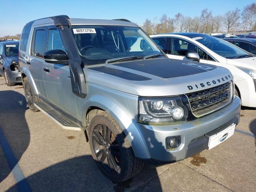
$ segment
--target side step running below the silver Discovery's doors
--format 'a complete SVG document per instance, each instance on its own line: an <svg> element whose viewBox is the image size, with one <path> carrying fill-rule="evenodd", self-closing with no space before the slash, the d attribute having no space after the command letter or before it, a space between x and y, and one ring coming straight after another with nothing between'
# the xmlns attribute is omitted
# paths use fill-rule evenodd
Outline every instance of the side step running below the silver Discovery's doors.
<svg viewBox="0 0 256 192"><path fill-rule="evenodd" d="M66 116L62 115L60 112L52 108L46 102L39 100L38 102L34 103L34 105L44 114L52 118L52 120L54 120L62 128L68 129L68 130L76 130L76 131L81 130L78 124L76 124L74 121L70 120Z"/></svg>

